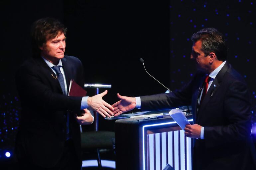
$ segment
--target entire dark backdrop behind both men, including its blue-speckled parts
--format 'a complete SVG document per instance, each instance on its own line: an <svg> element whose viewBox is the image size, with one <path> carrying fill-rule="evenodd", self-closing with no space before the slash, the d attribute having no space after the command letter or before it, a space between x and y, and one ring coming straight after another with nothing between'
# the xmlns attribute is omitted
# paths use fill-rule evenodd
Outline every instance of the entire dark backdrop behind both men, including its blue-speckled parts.
<svg viewBox="0 0 256 170"><path fill-rule="evenodd" d="M0 16L1 163L12 160L4 153L13 153L20 116L15 71L32 54L31 24L43 17L57 18L68 28L65 54L82 61L86 83L112 85L103 97L110 104L118 100L116 93L140 96L166 91L147 75L139 58L145 60L147 71L161 83L173 91L179 89L195 73L190 62L192 33L204 27L217 28L226 37L229 63L249 86L256 125L253 1L0 0ZM95 93L86 90L90 96ZM114 121L100 117L99 129L113 131Z"/></svg>

